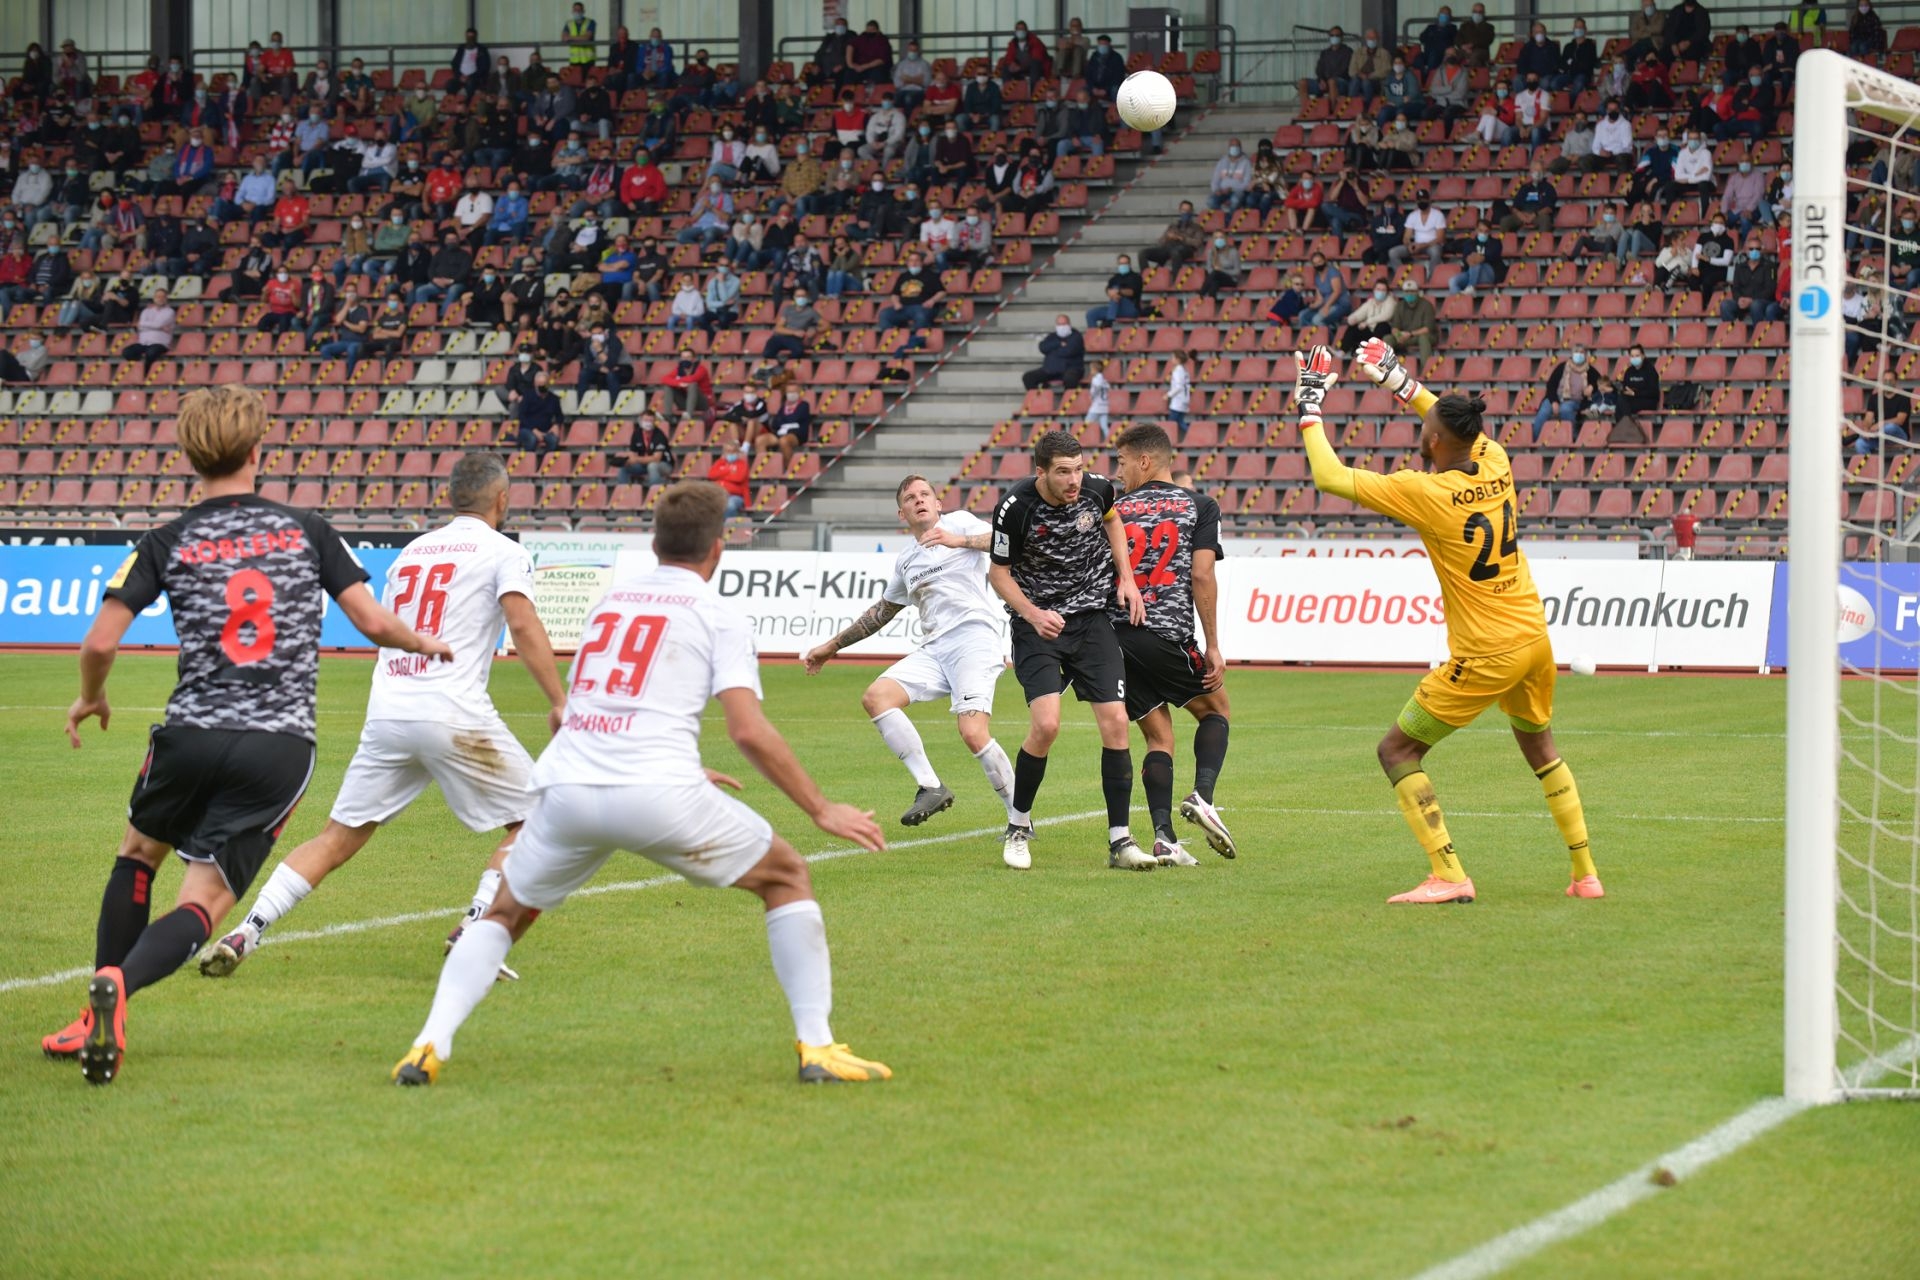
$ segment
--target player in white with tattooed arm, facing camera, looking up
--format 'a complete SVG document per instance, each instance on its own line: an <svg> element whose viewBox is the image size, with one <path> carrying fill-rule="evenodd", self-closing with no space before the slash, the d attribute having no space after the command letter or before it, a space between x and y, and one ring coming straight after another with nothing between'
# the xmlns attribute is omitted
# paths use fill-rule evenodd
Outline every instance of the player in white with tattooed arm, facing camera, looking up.
<svg viewBox="0 0 1920 1280"><path fill-rule="evenodd" d="M808 649L801 660L808 676L818 676L841 649L879 631L908 604L916 606L925 641L881 672L860 699L881 741L920 787L914 802L900 814L900 825L918 827L954 802L954 793L927 762L920 731L906 718L910 702L931 702L943 693L950 699L960 741L1012 812L1014 762L993 741L993 685L1006 670L1006 641L1000 635L1004 614L987 587L993 526L966 510L943 516L941 499L925 476L902 480L895 497L914 545L893 562L893 578L879 601L845 631Z"/></svg>

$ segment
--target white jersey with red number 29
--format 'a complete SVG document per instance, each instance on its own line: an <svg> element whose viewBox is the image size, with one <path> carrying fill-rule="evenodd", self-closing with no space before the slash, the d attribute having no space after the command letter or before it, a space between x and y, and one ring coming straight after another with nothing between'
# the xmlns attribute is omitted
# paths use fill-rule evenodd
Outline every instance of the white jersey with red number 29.
<svg viewBox="0 0 1920 1280"><path fill-rule="evenodd" d="M701 712L728 689L758 699L760 658L714 585L674 564L618 580L588 610L534 789L705 783Z"/></svg>

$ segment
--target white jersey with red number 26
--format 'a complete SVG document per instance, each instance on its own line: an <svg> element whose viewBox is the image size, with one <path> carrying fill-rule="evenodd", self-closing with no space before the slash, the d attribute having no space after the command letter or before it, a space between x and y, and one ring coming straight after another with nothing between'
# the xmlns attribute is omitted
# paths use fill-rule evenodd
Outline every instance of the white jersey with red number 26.
<svg viewBox="0 0 1920 1280"><path fill-rule="evenodd" d="M386 572L380 601L420 635L438 635L453 662L382 649L367 720L432 720L457 729L492 725L493 651L507 618L501 597L534 599L534 560L486 520L455 516L420 533Z"/></svg>

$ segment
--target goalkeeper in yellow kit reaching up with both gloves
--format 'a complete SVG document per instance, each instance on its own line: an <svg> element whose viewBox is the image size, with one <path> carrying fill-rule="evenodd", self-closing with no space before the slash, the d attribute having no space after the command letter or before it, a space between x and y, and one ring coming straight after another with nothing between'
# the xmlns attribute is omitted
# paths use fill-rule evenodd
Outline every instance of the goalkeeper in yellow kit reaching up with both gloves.
<svg viewBox="0 0 1920 1280"><path fill-rule="evenodd" d="M1572 858L1569 898L1599 898L1586 842L1586 814L1572 770L1553 750L1553 647L1526 555L1515 533L1515 486L1507 451L1480 432L1486 401L1434 395L1409 374L1379 338L1359 345L1356 372L1380 384L1421 418L1421 459L1428 470L1379 474L1344 466L1327 443L1321 403L1338 380L1334 351L1298 355L1294 401L1300 438L1323 493L1350 499L1400 520L1427 545L1446 601L1450 656L1430 672L1380 739L1380 768L1394 785L1413 839L1432 862L1417 889L1388 902L1473 902L1473 881L1459 865L1446 818L1427 777L1427 752L1500 704L1521 754L1546 791L1548 810Z"/></svg>

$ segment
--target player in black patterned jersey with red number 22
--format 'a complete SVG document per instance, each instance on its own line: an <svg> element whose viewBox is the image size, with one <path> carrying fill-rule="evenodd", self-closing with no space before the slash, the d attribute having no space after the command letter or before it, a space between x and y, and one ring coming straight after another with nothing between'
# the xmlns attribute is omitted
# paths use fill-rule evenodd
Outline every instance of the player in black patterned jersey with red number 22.
<svg viewBox="0 0 1920 1280"><path fill-rule="evenodd" d="M1146 622L1133 626L1110 610L1127 658L1127 718L1146 735L1140 787L1154 819L1154 858L1162 865L1196 865L1173 833L1173 716L1185 706L1194 727L1194 789L1181 818L1198 825L1221 858L1233 858L1233 835L1213 808L1213 781L1227 760L1225 658L1219 651L1213 564L1219 549L1219 503L1173 484L1173 441L1142 422L1114 439L1127 491L1114 505L1127 533L1133 581ZM1194 616L1206 651L1194 643Z"/></svg>

